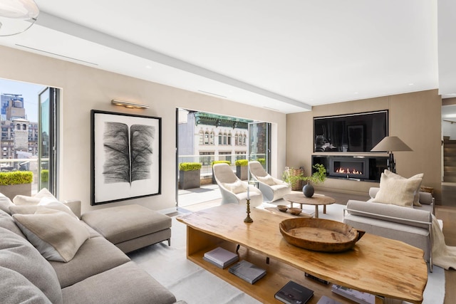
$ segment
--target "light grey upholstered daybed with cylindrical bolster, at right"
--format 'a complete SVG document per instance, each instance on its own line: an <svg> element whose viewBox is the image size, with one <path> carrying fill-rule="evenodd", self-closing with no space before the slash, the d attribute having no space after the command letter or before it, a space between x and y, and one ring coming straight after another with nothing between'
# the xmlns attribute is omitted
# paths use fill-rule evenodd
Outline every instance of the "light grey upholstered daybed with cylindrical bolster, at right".
<svg viewBox="0 0 456 304"><path fill-rule="evenodd" d="M374 199L378 188L371 188ZM422 206L396 206L373 201L349 200L344 209L343 222L356 229L388 239L403 241L423 249L425 261L432 272L432 214L434 198L420 192Z"/></svg>

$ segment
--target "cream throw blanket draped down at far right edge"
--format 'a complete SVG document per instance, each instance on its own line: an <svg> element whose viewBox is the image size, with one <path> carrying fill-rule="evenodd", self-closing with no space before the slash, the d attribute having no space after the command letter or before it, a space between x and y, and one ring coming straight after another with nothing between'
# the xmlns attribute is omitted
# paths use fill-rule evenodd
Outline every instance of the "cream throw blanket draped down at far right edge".
<svg viewBox="0 0 456 304"><path fill-rule="evenodd" d="M432 215L432 263L446 270L456 269L456 247L445 244L445 236L437 218Z"/></svg>

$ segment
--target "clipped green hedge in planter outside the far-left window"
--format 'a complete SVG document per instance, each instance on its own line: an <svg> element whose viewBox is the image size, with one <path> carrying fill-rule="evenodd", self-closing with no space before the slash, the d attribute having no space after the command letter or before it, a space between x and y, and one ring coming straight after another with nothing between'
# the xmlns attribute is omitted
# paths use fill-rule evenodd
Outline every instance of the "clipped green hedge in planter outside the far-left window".
<svg viewBox="0 0 456 304"><path fill-rule="evenodd" d="M21 194L31 196L31 183L33 172L12 171L0 172L0 193L14 199L14 196Z"/></svg>

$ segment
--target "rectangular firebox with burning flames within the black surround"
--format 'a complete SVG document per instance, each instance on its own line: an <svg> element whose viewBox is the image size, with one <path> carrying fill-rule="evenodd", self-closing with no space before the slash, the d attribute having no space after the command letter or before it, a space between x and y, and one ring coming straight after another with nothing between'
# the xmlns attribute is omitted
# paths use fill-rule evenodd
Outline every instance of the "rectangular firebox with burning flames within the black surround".
<svg viewBox="0 0 456 304"><path fill-rule="evenodd" d="M344 177L347 179L368 179L369 159L354 157L329 157L330 177Z"/></svg>

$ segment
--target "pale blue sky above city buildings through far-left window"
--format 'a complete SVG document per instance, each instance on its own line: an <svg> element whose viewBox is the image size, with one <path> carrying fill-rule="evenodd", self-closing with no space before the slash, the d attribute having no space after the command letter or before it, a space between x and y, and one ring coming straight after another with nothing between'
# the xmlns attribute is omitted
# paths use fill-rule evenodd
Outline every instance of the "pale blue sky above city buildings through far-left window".
<svg viewBox="0 0 456 304"><path fill-rule="evenodd" d="M1 94L22 94L27 119L30 122L38 122L38 94L44 88L47 87L44 85L36 85L34 83L23 83L20 81L0 78Z"/></svg>

